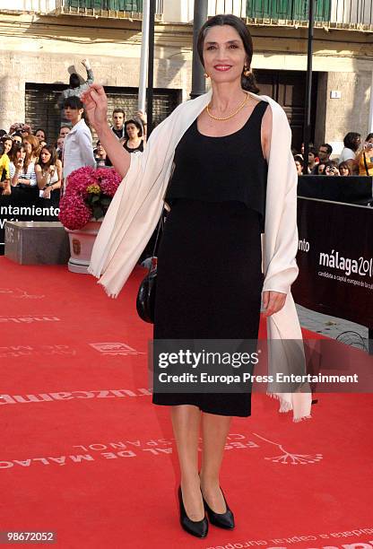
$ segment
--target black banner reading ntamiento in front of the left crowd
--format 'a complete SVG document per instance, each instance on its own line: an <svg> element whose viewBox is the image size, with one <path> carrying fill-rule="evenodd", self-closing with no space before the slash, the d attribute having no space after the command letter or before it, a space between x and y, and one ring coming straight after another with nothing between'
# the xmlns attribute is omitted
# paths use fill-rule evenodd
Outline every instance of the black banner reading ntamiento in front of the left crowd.
<svg viewBox="0 0 373 549"><path fill-rule="evenodd" d="M6 221L56 222L59 213L60 191L52 191L50 198L40 198L38 188L12 188L11 196L0 195L0 256L4 256Z"/></svg>

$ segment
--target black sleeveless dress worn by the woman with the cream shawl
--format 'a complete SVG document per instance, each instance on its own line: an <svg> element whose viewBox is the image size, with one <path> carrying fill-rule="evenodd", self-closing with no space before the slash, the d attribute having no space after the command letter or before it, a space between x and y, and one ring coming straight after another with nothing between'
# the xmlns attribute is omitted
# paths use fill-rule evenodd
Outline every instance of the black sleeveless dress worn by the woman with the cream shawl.
<svg viewBox="0 0 373 549"><path fill-rule="evenodd" d="M260 101L238 132L190 126L175 151L171 206L158 251L154 339L257 339L267 163ZM156 405L251 414L251 393L153 393Z"/></svg>

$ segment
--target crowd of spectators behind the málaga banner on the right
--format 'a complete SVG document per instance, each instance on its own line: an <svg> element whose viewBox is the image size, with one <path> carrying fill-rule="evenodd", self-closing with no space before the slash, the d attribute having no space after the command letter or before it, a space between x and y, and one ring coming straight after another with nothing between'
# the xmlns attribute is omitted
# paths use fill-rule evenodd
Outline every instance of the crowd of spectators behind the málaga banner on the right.
<svg viewBox="0 0 373 549"><path fill-rule="evenodd" d="M321 144L318 148L310 143L308 147L308 175L326 176L373 176L373 134L367 135L364 142L361 135L349 132L343 139L343 150L339 158L331 159L333 148ZM293 151L298 175L304 174L304 144L300 152Z"/></svg>

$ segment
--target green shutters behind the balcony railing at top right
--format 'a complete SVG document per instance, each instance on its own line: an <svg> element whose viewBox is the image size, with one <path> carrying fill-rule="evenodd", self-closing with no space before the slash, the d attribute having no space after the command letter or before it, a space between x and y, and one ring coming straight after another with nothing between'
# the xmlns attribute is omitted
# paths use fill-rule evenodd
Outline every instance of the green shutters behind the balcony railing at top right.
<svg viewBox="0 0 373 549"><path fill-rule="evenodd" d="M330 20L331 0L316 0L315 21ZM247 0L247 17L308 21L309 0Z"/></svg>

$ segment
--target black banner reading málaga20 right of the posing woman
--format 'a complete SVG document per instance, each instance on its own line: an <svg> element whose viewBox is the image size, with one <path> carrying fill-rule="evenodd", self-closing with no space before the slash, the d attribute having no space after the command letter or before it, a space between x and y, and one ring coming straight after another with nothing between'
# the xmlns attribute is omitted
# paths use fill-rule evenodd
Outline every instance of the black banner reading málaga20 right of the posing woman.
<svg viewBox="0 0 373 549"><path fill-rule="evenodd" d="M373 210L299 198L299 276L294 300L373 327Z"/></svg>

